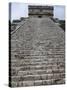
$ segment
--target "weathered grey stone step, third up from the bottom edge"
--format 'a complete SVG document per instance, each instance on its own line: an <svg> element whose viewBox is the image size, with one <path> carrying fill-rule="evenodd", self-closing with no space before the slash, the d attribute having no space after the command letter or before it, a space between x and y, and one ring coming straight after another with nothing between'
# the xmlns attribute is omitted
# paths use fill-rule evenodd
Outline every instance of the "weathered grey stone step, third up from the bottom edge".
<svg viewBox="0 0 67 90"><path fill-rule="evenodd" d="M24 75L36 75L36 74L48 74L48 73L65 73L65 69L64 68L60 68L60 69L46 69L46 70L26 70L26 71L17 71L17 75L18 76L24 76Z"/></svg>

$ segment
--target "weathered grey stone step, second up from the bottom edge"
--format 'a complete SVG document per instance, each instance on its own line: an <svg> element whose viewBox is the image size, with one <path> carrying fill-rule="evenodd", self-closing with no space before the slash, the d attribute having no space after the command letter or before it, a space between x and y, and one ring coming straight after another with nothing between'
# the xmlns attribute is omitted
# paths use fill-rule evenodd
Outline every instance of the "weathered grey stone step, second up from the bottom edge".
<svg viewBox="0 0 67 90"><path fill-rule="evenodd" d="M13 76L12 81L35 81L35 80L50 80L50 79L59 79L65 78L64 73L55 73L55 74L36 74L36 75L26 75L26 76Z"/></svg>

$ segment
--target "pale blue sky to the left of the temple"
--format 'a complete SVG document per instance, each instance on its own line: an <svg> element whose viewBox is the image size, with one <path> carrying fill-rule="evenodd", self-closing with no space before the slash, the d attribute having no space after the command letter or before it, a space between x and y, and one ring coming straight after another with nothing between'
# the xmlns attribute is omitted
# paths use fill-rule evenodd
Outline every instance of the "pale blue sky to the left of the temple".
<svg viewBox="0 0 67 90"><path fill-rule="evenodd" d="M19 19L20 17L28 17L28 5L22 3L12 3L11 20Z"/></svg>

